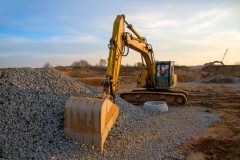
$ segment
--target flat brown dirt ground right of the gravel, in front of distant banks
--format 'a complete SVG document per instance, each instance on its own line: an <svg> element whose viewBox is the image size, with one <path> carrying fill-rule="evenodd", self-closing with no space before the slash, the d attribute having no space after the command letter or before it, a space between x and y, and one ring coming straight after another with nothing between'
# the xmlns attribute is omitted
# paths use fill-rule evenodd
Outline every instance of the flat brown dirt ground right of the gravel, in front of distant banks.
<svg viewBox="0 0 240 160"><path fill-rule="evenodd" d="M187 105L222 116L203 136L181 146L194 151L187 159L240 159L240 85L184 84L178 89L188 91Z"/></svg>

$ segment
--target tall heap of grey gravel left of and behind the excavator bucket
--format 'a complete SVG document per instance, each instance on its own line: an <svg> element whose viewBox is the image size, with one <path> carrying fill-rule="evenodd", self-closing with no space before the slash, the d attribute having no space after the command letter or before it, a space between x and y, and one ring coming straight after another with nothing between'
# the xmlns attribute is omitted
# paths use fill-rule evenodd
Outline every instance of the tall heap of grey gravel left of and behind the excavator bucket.
<svg viewBox="0 0 240 160"><path fill-rule="evenodd" d="M63 111L68 96L100 94L95 87L54 69L3 71L0 74L0 157L45 159L61 152L59 145L67 142L63 138ZM127 105L120 99L117 102L120 106ZM142 117L138 114L132 118L132 112L134 108L123 108L116 127L131 125ZM66 147L69 145L71 142Z"/></svg>

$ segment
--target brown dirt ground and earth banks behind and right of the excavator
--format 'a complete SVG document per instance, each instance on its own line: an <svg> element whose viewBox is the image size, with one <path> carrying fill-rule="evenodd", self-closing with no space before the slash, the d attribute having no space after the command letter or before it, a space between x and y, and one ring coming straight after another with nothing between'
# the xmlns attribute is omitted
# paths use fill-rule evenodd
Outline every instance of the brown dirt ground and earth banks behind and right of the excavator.
<svg viewBox="0 0 240 160"><path fill-rule="evenodd" d="M60 67L58 70L90 85L101 87L106 69ZM189 94L186 107L219 112L222 121L210 126L204 135L195 137L179 147L186 159L240 159L240 84L201 84L199 80L212 77L240 77L240 66L176 67L180 83L176 90ZM140 68L123 67L120 92L136 87ZM192 150L190 153L189 150Z"/></svg>

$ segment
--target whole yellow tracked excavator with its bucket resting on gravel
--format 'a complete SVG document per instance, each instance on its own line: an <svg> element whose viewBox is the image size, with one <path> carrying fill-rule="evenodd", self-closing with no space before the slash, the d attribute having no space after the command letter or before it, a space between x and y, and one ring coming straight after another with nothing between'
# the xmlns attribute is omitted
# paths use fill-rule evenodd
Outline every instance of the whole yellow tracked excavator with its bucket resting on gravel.
<svg viewBox="0 0 240 160"><path fill-rule="evenodd" d="M125 32L125 25L132 33ZM137 86L141 89L121 93L123 99L137 104L163 100L168 104L184 105L187 101L186 92L172 90L177 82L174 62L155 61L152 45L125 20L124 15L116 17L108 47L103 96L71 96L64 107L64 136L80 144L96 146L101 151L119 115L115 98L120 87L121 60L128 55L129 49L140 53L142 57L142 70L137 80Z"/></svg>

